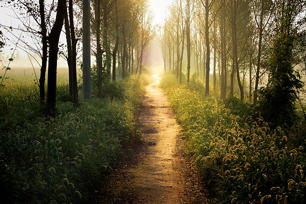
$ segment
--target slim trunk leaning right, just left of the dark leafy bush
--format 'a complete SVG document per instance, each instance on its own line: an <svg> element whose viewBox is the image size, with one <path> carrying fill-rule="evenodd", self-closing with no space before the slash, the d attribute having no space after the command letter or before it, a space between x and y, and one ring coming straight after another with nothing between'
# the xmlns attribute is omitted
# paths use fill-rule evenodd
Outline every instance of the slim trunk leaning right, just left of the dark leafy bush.
<svg viewBox="0 0 306 204"><path fill-rule="evenodd" d="M261 42L262 42L262 18L263 18L263 0L260 1L260 22L259 22L259 42L258 42L258 55L257 55L257 68L256 68L256 78L255 78L255 88L254 88L254 99L253 103L257 102L257 91L259 83L259 70L260 70L260 58L261 58Z"/></svg>

